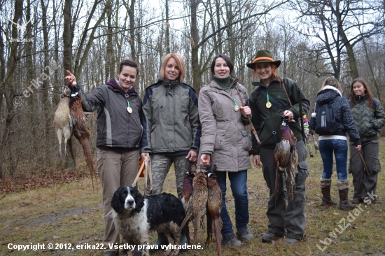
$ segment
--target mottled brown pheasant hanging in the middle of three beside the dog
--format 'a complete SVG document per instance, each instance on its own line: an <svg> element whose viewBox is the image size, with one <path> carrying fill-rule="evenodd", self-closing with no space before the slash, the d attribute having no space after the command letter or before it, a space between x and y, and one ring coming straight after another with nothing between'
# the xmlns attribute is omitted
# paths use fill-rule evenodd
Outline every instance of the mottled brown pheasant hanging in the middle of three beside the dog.
<svg viewBox="0 0 385 256"><path fill-rule="evenodd" d="M202 171L197 171L195 178L193 179L193 194L190 197L190 201L187 205L186 217L184 218L181 228L188 225L188 221L194 218L194 241L197 243L198 234L200 232L200 220L204 213L206 213L207 204L207 180L206 175Z"/></svg>

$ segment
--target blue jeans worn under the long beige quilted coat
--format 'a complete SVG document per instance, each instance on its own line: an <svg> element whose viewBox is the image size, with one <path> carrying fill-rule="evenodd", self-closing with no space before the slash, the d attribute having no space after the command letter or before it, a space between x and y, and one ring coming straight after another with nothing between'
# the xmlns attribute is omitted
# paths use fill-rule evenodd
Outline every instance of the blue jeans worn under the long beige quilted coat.
<svg viewBox="0 0 385 256"><path fill-rule="evenodd" d="M248 197L247 197L247 171L216 171L216 180L222 191L222 211L223 222L222 236L234 234L232 222L226 207L226 173L229 175L232 197L235 200L235 227L238 230L247 229L248 224Z"/></svg>

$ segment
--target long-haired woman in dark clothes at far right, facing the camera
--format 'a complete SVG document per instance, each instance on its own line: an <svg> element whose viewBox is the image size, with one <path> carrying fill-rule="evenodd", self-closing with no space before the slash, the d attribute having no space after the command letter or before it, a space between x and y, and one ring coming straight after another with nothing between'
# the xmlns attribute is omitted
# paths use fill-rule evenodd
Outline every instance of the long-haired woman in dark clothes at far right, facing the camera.
<svg viewBox="0 0 385 256"><path fill-rule="evenodd" d="M350 107L354 123L361 140L361 152L354 150L350 141L349 173L353 173L354 196L351 202L359 204L374 203L377 187L377 176L381 171L379 161L379 130L385 125L384 108L381 102L373 97L370 87L363 78L356 78L350 86ZM365 171L361 154L367 166Z"/></svg>

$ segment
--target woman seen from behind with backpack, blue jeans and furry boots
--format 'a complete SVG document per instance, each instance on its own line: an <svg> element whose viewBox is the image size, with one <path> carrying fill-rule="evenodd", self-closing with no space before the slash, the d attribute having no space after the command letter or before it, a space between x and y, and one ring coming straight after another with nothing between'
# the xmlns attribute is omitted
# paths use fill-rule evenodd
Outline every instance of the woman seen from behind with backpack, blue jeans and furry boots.
<svg viewBox="0 0 385 256"><path fill-rule="evenodd" d="M328 77L323 81L320 92L317 94L316 107L314 113L311 114L310 128L317 132L320 124L316 122L318 109L322 104L329 104L335 114L335 121L338 124L338 130L334 134L324 134L318 137L319 152L321 153L323 162L323 173L320 181L321 192L323 195L321 206L337 205L330 197L330 185L332 183L332 166L333 152L335 155L335 165L337 169L337 189L339 192L339 208L341 210L350 210L356 208L353 204L349 204L349 180L346 173L346 161L348 154L348 146L346 141L346 131L354 144L354 150L359 151L361 148L360 136L354 126L353 118L347 99L342 97L342 87L337 79Z"/></svg>

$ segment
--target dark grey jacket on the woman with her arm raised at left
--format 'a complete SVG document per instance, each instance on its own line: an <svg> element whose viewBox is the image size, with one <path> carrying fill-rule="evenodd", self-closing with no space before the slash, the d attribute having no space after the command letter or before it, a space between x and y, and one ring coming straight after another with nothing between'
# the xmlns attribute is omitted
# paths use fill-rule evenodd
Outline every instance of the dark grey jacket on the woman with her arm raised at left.
<svg viewBox="0 0 385 256"><path fill-rule="evenodd" d="M106 85L99 85L90 94L80 90L83 110L97 111L97 146L109 148L140 149L141 98L137 92L127 94L132 113L127 112L127 99L116 81L111 79Z"/></svg>

